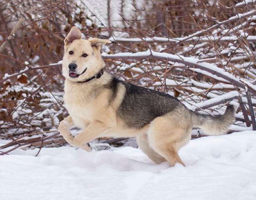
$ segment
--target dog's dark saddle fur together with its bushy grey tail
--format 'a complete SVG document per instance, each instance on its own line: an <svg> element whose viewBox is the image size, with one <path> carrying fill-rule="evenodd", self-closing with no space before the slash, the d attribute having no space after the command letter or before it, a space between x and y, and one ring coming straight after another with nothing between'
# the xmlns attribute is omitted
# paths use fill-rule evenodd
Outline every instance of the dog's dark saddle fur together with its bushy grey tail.
<svg viewBox="0 0 256 200"><path fill-rule="evenodd" d="M113 98L118 85L125 86L125 95L117 109L117 115L128 128L142 128L150 124L156 117L160 117L175 110L176 113L186 113L186 122L191 121L192 128L202 128L207 135L221 135L228 131L228 126L234 121L234 107L229 105L224 115L212 117L210 115L199 114L188 110L177 98L151 90L145 87L139 87L113 77L110 80ZM188 120L191 119L191 120Z"/></svg>

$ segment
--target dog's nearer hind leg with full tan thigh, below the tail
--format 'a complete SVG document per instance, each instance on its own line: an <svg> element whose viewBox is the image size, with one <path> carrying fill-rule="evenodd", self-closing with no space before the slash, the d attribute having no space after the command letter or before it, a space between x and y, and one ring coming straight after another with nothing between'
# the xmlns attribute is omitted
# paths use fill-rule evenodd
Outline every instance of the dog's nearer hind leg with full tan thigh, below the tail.
<svg viewBox="0 0 256 200"><path fill-rule="evenodd" d="M164 157L170 166L174 166L176 163L185 166L178 151L191 138L192 128L189 116L181 112L179 110L179 112L156 117L149 127L149 145Z"/></svg>

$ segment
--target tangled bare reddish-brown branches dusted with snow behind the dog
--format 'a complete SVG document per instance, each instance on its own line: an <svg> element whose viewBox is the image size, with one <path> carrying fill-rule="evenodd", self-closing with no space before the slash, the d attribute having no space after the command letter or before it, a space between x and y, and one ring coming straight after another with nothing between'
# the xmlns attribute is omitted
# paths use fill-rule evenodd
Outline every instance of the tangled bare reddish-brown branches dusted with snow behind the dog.
<svg viewBox="0 0 256 200"><path fill-rule="evenodd" d="M113 41L102 56L120 79L205 114L223 114L231 103L238 110L230 132L256 130L255 6L253 0L2 0L0 137L10 143L0 153L66 144L57 131L68 115L59 61L72 26L85 39ZM103 148L136 147L133 138L99 140Z"/></svg>

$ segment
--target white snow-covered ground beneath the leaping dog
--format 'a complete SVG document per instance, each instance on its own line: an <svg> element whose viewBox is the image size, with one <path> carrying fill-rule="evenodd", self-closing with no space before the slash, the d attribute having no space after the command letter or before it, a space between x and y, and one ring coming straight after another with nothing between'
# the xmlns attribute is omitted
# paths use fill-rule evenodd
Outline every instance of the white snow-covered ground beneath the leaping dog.
<svg viewBox="0 0 256 200"><path fill-rule="evenodd" d="M37 152L0 156L0 200L256 199L256 131L191 140L179 152L185 168L131 147Z"/></svg>

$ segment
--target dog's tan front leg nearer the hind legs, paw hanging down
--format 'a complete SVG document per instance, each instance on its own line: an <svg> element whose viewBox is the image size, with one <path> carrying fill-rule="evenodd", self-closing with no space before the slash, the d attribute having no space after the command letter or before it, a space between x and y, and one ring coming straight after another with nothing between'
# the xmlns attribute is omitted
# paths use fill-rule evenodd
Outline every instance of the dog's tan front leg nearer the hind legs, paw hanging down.
<svg viewBox="0 0 256 200"><path fill-rule="evenodd" d="M87 128L74 137L73 143L75 146L90 152L92 148L87 143L98 138L106 130L108 130L108 127L103 122L92 121Z"/></svg>

